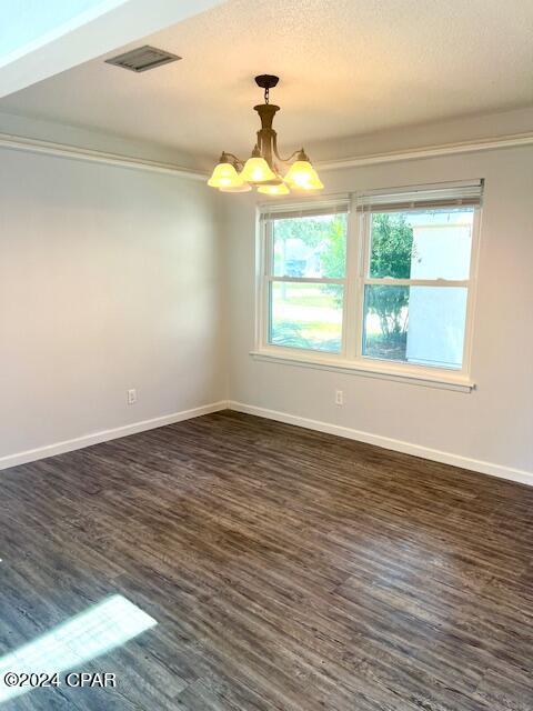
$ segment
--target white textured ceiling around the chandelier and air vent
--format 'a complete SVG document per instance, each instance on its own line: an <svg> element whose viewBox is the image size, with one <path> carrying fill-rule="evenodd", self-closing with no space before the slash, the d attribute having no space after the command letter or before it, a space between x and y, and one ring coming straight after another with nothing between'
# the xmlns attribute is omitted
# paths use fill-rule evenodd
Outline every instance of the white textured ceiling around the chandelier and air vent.
<svg viewBox="0 0 533 711"><path fill-rule="evenodd" d="M258 73L281 77L284 153L533 104L532 0L230 0L145 41L183 60L140 74L92 60L0 111L217 156L251 149Z"/></svg>

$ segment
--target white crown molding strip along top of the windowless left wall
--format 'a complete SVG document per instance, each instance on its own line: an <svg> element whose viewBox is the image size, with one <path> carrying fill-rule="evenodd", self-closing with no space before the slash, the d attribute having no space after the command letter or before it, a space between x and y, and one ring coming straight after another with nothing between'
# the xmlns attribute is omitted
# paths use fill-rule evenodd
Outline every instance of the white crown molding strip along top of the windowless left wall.
<svg viewBox="0 0 533 711"><path fill-rule="evenodd" d="M182 178L190 178L191 180L205 180L207 178L207 173L203 171L184 168L183 166L178 166L175 163L162 163L144 158L121 156L120 153L107 153L90 148L79 148L77 146L42 141L36 138L13 136L11 133L0 133L0 148L28 151L30 153L44 153L47 156L56 156L57 158L86 160L93 163L105 163L108 166L120 166L122 168L150 170L157 173L170 173L173 176L181 176Z"/></svg>

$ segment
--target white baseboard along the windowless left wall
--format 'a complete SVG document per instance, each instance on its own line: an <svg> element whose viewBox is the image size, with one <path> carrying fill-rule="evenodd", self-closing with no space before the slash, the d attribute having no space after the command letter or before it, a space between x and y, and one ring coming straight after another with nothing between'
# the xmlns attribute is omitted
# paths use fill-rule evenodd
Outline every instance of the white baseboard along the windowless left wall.
<svg viewBox="0 0 533 711"><path fill-rule="evenodd" d="M0 470L8 469L9 467L17 467L18 464L27 464L28 462L34 462L38 459L46 459L47 457L53 457L54 454L72 452L76 449L83 449L91 444L109 442L110 440L115 440L119 437L137 434L138 432L153 430L158 427L164 427L165 424L181 422L182 420L191 420L192 418L209 414L210 412L218 412L219 410L225 410L227 408L228 402L225 400L221 400L220 402L212 402L210 404L201 405L200 408L193 408L192 410L182 410L181 412L173 412L172 414L163 414L160 418L142 420L141 422L133 422L132 424L124 424L123 427L117 427L112 430L102 430L100 432L92 432L91 434L83 434L82 437L77 437L72 440L64 440L62 442L56 442L54 444L38 447L37 449L30 449L26 452L8 454L7 457L0 457Z"/></svg>

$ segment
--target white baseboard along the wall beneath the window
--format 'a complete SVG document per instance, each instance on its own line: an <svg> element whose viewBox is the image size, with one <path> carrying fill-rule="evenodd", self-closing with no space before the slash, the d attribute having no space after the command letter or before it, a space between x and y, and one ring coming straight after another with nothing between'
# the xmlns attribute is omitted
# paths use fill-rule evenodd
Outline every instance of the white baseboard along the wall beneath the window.
<svg viewBox="0 0 533 711"><path fill-rule="evenodd" d="M372 434L370 432L354 430L352 428L342 427L340 424L321 422L320 420L310 420L308 418L301 418L295 414L289 414L288 412L266 410L265 408L258 408L252 404L235 402L234 400L230 400L228 402L228 408L230 410L235 410L237 412L255 414L260 418L276 420L278 422L285 422L286 424L295 424L298 427L304 427L309 430L318 430L319 432L328 432L329 434L345 437L351 440L358 440L359 442L365 442L366 444L375 444L376 447L391 449L395 452L402 452L403 454L412 454L413 457L430 459L443 464L451 464L452 467L470 469L482 474L490 474L491 477L499 477L500 479L517 481L522 484L529 484L530 487L533 485L533 472L524 471L522 469L513 469L512 467L494 464L492 462L485 462L479 459L470 459L469 457L461 457L460 454L452 454L451 452L442 452L438 449L422 447L421 444L413 444L412 442L404 442L402 440L395 440L390 437L382 437L381 434Z"/></svg>

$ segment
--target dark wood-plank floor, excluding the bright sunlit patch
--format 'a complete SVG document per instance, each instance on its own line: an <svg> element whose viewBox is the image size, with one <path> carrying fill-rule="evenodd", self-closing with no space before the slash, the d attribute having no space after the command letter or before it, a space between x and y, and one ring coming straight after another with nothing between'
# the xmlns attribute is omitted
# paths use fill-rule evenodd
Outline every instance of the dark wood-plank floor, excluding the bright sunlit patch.
<svg viewBox="0 0 533 711"><path fill-rule="evenodd" d="M0 655L111 594L115 689L1 711L531 711L533 489L221 412L0 473Z"/></svg>

